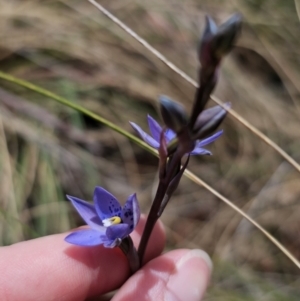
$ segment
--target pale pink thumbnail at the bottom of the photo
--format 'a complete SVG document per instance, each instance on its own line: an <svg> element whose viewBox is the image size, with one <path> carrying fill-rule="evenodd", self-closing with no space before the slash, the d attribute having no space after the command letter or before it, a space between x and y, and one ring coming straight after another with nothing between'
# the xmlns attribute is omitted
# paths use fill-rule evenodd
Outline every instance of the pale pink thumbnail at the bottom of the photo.
<svg viewBox="0 0 300 301"><path fill-rule="evenodd" d="M212 262L204 251L189 251L176 263L176 270L168 280L164 301L201 300L211 270Z"/></svg>

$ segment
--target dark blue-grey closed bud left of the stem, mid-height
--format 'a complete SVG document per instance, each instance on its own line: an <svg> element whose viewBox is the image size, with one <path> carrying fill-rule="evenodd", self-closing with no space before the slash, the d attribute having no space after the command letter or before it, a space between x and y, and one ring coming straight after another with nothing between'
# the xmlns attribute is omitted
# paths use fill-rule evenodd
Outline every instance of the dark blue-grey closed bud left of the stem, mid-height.
<svg viewBox="0 0 300 301"><path fill-rule="evenodd" d="M164 95L159 96L159 103L165 125L175 133L179 133L188 122L184 107Z"/></svg>

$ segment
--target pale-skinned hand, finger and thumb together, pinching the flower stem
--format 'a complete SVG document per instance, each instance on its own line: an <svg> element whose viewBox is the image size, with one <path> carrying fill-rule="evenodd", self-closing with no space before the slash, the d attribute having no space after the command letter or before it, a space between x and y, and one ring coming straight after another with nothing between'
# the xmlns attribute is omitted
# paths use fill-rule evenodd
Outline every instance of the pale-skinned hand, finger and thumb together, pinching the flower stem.
<svg viewBox="0 0 300 301"><path fill-rule="evenodd" d="M144 224L142 217L131 235L135 244ZM199 301L209 282L206 253L179 249L160 255L165 244L161 223L149 241L147 264L130 278L127 259L118 248L73 246L64 241L65 236L0 248L0 299L96 300L92 296L120 288L113 301Z"/></svg>

